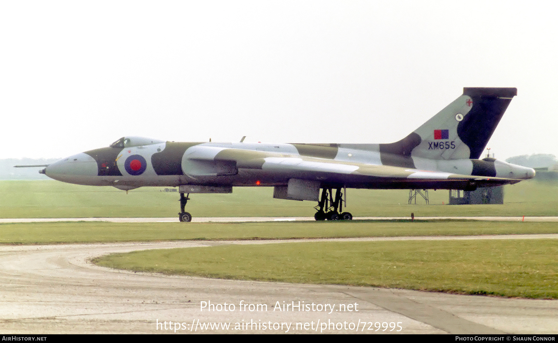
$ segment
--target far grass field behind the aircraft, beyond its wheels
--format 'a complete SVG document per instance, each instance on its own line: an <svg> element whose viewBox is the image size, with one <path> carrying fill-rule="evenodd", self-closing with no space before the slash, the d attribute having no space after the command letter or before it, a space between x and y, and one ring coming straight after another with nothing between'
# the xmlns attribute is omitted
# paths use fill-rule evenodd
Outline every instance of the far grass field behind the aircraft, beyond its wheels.
<svg viewBox="0 0 558 343"><path fill-rule="evenodd" d="M0 181L0 218L177 217L179 194L143 187L45 181ZM348 189L349 212L361 216L558 215L558 184L528 180L504 188L502 205L447 205L447 190L430 190L430 205L409 205L408 190ZM315 203L272 198L270 187L235 187L232 194L192 194L194 217L312 216ZM424 200L423 200L424 201ZM442 205L442 203L444 205Z"/></svg>

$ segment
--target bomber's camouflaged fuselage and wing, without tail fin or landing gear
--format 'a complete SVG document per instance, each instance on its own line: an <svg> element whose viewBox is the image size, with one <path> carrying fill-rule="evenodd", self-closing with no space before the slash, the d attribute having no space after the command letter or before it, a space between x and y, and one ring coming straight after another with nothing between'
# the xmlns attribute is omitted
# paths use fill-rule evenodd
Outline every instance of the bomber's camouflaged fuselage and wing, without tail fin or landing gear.
<svg viewBox="0 0 558 343"><path fill-rule="evenodd" d="M47 175L64 182L122 189L186 184L276 186L286 185L291 178L318 180L324 187L466 189L476 178L464 175L501 177L513 169L495 160L417 158L416 164L436 165L436 169L419 170L415 159L402 161L401 156L382 153L380 145L165 142L86 151L49 166ZM57 164L64 164L62 175L57 175ZM84 170L89 172L84 174ZM514 175L527 178L529 172L519 170ZM513 183L499 178L484 181Z"/></svg>

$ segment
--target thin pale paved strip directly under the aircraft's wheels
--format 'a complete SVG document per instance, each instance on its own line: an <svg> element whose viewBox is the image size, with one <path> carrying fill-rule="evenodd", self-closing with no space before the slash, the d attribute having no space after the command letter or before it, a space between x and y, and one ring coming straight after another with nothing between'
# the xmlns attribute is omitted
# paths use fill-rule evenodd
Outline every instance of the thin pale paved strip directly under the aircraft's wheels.
<svg viewBox="0 0 558 343"><path fill-rule="evenodd" d="M410 217L354 217L355 221L363 220L397 220ZM558 217L415 217L416 220L460 220L460 221L504 221L504 222L558 222ZM287 222L310 221L314 217L200 217L192 218L193 223L233 223L233 222ZM32 223L32 222L110 222L110 223L165 223L178 222L178 218L0 218L0 223Z"/></svg>

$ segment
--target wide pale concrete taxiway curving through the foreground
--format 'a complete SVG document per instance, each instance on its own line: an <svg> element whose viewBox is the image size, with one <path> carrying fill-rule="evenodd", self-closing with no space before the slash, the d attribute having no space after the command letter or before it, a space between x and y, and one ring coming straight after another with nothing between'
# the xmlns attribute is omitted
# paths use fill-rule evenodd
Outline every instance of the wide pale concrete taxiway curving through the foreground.
<svg viewBox="0 0 558 343"><path fill-rule="evenodd" d="M487 238L558 238L558 235L434 239ZM103 254L142 249L266 243L278 242L184 241L0 246L0 332L175 334L176 329L176 334L558 333L558 301L554 300L165 276L110 270L88 262L90 258ZM208 307L202 308L204 302L213 305L214 311L208 311ZM242 304L247 305L244 310ZM234 305L234 309L231 305ZM267 305L267 310L263 310L263 305ZM291 306L286 311L277 309L283 305ZM312 305L312 310L300 311L300 308L305 309L305 305ZM318 305L321 305L321 311ZM210 323L218 327L212 329Z"/></svg>

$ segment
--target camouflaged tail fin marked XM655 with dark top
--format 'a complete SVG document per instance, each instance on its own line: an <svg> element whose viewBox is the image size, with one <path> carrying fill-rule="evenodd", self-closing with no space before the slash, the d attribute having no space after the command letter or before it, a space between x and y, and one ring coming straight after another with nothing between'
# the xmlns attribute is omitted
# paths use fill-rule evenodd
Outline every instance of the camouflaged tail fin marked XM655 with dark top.
<svg viewBox="0 0 558 343"><path fill-rule="evenodd" d="M402 159L478 159L496 130L516 88L465 87L451 102L406 138L380 144L381 152Z"/></svg>

